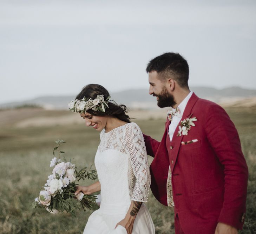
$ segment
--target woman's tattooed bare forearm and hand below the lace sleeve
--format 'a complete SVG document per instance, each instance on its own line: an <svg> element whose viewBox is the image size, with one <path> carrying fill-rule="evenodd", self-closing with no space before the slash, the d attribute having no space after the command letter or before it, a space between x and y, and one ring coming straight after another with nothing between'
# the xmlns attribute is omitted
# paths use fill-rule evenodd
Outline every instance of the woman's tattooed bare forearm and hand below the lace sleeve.
<svg viewBox="0 0 256 234"><path fill-rule="evenodd" d="M117 223L116 227L118 225L121 225L121 226L125 227L127 234L131 234L132 229L133 229L134 220L136 218L136 215L139 212L141 205L142 205L142 201L132 201L131 205L129 207L129 210L128 210L127 214L125 215L125 218L123 220L121 220L119 223ZM116 229L116 227L115 227L115 229Z"/></svg>

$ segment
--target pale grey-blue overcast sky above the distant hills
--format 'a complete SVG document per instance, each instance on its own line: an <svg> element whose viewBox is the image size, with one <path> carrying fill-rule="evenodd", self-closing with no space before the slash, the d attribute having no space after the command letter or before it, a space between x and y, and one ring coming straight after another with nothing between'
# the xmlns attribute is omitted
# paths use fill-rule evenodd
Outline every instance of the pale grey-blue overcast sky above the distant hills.
<svg viewBox="0 0 256 234"><path fill-rule="evenodd" d="M190 86L256 89L256 1L0 0L0 103L149 88L165 52Z"/></svg>

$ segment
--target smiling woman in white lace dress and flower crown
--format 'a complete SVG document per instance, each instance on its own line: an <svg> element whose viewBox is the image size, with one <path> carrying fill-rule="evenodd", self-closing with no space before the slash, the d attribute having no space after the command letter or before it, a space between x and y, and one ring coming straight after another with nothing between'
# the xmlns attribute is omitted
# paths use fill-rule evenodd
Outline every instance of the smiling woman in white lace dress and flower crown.
<svg viewBox="0 0 256 234"><path fill-rule="evenodd" d="M124 105L109 101L101 85L87 85L71 101L86 126L100 132L95 156L99 181L78 186L75 194L101 191L100 208L89 217L84 234L153 234L153 221L143 202L150 189L150 171L142 132Z"/></svg>

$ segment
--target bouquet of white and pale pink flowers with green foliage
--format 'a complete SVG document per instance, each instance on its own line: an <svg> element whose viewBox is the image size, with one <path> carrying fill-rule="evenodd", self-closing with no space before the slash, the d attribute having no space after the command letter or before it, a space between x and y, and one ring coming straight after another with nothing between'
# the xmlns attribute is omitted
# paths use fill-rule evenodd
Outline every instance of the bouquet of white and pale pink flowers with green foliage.
<svg viewBox="0 0 256 234"><path fill-rule="evenodd" d="M96 170L87 167L77 170L76 165L67 162L66 159L62 161L60 154L65 153L63 151L57 151L61 143L65 143L63 140L55 141L57 146L53 149L53 155L57 153L59 159L54 157L51 160L50 167L54 167L52 174L48 176L48 180L44 185L44 190L41 190L39 196L35 198L33 202L33 208L40 207L46 208L46 210L52 214L63 213L66 211L72 216L75 216L76 211L82 207L92 208L92 205L96 204L96 196L86 195L82 192L74 195L76 189L76 182L86 178L97 179ZM76 198L76 199L75 199ZM80 203L80 204L79 204Z"/></svg>

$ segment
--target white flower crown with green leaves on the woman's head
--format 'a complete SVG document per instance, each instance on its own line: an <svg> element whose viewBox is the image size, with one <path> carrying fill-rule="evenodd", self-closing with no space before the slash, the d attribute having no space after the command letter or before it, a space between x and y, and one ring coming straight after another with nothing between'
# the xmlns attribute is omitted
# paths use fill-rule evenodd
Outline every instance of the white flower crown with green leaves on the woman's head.
<svg viewBox="0 0 256 234"><path fill-rule="evenodd" d="M109 108L107 103L109 102L110 96L104 100L104 95L97 95L96 99L92 100L86 99L85 97L82 100L72 100L68 104L68 108L70 111L79 112L79 113L86 113L88 109L92 109L93 111L101 111L105 112L105 107Z"/></svg>

